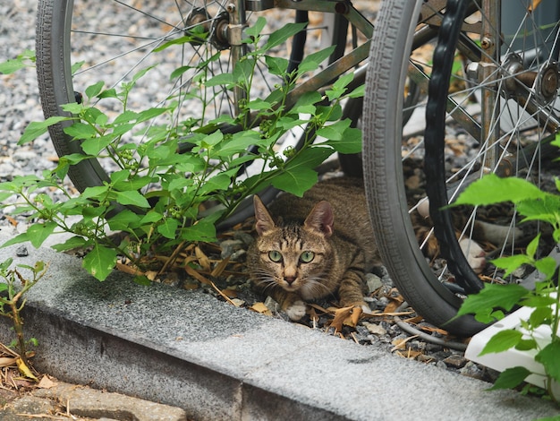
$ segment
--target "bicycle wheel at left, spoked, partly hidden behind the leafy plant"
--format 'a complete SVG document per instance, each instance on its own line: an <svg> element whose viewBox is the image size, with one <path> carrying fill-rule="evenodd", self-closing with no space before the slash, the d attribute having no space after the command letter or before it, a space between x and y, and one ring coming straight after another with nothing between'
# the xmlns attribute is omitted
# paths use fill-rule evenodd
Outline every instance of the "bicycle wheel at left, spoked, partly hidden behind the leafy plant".
<svg viewBox="0 0 560 421"><path fill-rule="evenodd" d="M235 115L242 97L236 97L225 84L205 87L204 82L212 76L231 72L233 56L242 55L242 46L236 52L228 41L232 2L213 1L161 3L155 0L113 1L93 4L86 0L42 0L38 4L37 63L41 102L46 117L64 116L62 107L76 101L76 92L83 92L89 84L104 81L107 88L131 81L140 69L150 68L148 77L136 82L128 99L131 107L146 109L150 106L165 107L170 101L180 101L174 124L185 120L197 120L193 130L204 129L208 122L223 115ZM258 6L259 4L253 4ZM229 7L229 9L228 9ZM334 11L334 9L333 9ZM249 21L251 15L262 13L237 13L238 20ZM267 21L267 31L278 29L288 22L309 20L307 12L276 12ZM328 13L327 13L328 14ZM281 16L282 19L278 20ZM233 19L233 18L231 18ZM256 18L255 18L256 19ZM320 22L319 22L320 23ZM347 32L340 30L343 20L332 20L323 26L310 24L310 30L321 35L307 40L301 32L291 43L291 66L310 51L327 45L344 46ZM344 27L345 28L345 27ZM344 29L343 28L343 29ZM204 35L197 34L203 31ZM178 42L191 37L188 42ZM320 39L320 45L318 40ZM174 45L174 42L176 45ZM161 49L165 47L165 49ZM286 46L276 47L278 56L287 56ZM337 51L340 55L342 52ZM201 80L201 69L208 72ZM181 69L180 76L170 78ZM282 80L259 68L255 73L258 83L251 87L251 98L266 98ZM326 81L325 83L330 82ZM191 87L197 86L196 97L190 95ZM258 90L254 90L258 87ZM253 91L254 90L254 91ZM136 94L135 91L140 92ZM203 103L203 104L202 104ZM112 112L110 101L101 100L106 114ZM157 125L157 121L152 121ZM82 154L80 142L64 133L69 122L49 128L55 150L59 156ZM227 130L235 131L235 127ZM276 145L278 155L282 150L297 146L299 134L293 133ZM130 141L132 142L132 141ZM134 142L141 142L135 140ZM259 167L259 166L255 166ZM70 168L72 183L80 190L102 185L109 175L119 168L110 160L82 160ZM248 202L250 203L250 202Z"/></svg>

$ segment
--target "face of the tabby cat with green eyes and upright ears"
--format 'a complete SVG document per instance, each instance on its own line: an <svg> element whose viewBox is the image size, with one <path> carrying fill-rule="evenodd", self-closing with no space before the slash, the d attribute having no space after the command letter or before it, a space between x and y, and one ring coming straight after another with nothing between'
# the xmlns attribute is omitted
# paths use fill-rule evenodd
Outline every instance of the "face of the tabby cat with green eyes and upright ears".
<svg viewBox="0 0 560 421"><path fill-rule="evenodd" d="M257 262L251 275L265 289L279 286L304 299L325 296L330 288L328 260L332 256L329 236L333 216L327 202L319 202L301 225L276 225L261 202L255 202ZM332 260L332 259L331 259Z"/></svg>

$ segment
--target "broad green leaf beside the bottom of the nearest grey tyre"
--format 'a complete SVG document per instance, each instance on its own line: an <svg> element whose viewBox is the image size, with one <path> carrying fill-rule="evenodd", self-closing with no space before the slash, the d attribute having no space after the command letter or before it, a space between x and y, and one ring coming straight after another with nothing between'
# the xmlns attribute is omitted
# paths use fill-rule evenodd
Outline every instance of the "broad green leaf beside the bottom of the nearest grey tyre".
<svg viewBox="0 0 560 421"><path fill-rule="evenodd" d="M462 302L457 316L464 314L475 314L480 322L493 322L496 314L495 308L510 311L513 305L520 302L523 296L530 292L517 284L485 284L478 294L472 294Z"/></svg>

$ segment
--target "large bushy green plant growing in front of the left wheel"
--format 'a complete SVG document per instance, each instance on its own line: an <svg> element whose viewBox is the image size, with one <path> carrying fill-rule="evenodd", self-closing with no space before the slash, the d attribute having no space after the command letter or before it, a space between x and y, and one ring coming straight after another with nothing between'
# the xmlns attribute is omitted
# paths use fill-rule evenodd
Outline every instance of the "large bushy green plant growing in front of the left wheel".
<svg viewBox="0 0 560 421"><path fill-rule="evenodd" d="M44 171L42 176L15 177L0 184L0 201L16 196L15 212L34 221L27 232L4 245L30 241L38 247L48 236L72 233L72 238L55 249L87 250L83 266L97 279L106 279L119 256L125 257L141 273L158 263L157 256L173 259L189 243L215 240L216 222L230 215L250 194L274 185L301 195L317 182L318 175L313 168L332 153L359 152L361 132L350 127L349 120L340 120L341 100L363 93L362 89L346 92L352 74L338 79L325 93L304 93L293 107L286 105L288 92L295 83L305 73L318 69L334 47L306 56L297 70L287 73L288 60L271 56L269 52L304 25L288 24L266 38L261 35L264 25L265 20L259 18L255 26L246 30L247 39L243 42L250 45L250 53L243 56L232 73L209 77L205 72L208 62L197 69L199 86L225 85L230 90L246 92L237 116L222 116L202 126L200 120L192 118L176 124L179 98L170 99L165 106L132 110L129 94L150 71L147 68L118 89L106 89L103 82L89 86L83 103L64 106L65 111L72 113L70 117L56 116L31 123L21 137L21 144L45 133L49 125L71 120L72 125L64 132L74 142L81 142L84 153L61 157L58 166ZM158 50L190 41L189 36L175 39ZM282 80L265 99L250 98L257 64L266 64L269 73ZM171 77L180 77L184 70L176 69ZM197 86L182 95L199 98L202 109L208 105L208 99L197 91ZM120 105L118 115L108 116L100 109L99 104L106 100ZM328 105L323 105L325 101ZM309 117L301 118L302 113ZM166 124L161 123L162 118L166 118ZM220 130L223 125L238 130L223 133ZM279 156L276 142L294 127L303 129L301 149L285 150L284 157ZM134 137L141 137L142 142L132 142ZM319 137L321 141L317 142ZM110 179L78 196L69 193L63 182L69 167L83 159L98 158L109 159L117 168ZM259 173L239 178L243 166L257 159ZM53 202L44 193L45 189L58 190L65 200ZM209 201L218 202L221 208L205 215L200 208ZM70 217L79 220L70 223ZM115 231L126 236L112 236ZM161 265L156 270L159 269ZM149 282L143 275L136 280Z"/></svg>

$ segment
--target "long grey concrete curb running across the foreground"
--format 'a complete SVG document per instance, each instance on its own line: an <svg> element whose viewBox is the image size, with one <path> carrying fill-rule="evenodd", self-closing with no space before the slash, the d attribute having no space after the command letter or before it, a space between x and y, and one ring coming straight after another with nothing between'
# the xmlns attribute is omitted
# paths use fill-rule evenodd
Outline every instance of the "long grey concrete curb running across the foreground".
<svg viewBox="0 0 560 421"><path fill-rule="evenodd" d="M105 282L49 249L30 291L34 365L66 382L184 408L189 419L524 420L552 404L218 302L201 291ZM0 321L0 340L9 323ZM9 340L8 340L9 341Z"/></svg>

